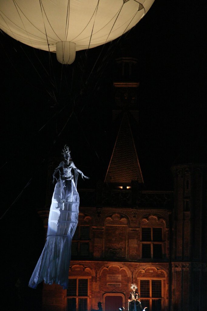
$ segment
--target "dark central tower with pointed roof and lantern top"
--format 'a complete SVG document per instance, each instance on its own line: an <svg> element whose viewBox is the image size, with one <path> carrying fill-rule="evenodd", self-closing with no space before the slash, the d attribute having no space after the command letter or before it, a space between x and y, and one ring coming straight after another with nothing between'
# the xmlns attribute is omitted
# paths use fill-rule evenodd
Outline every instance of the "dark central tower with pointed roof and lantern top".
<svg viewBox="0 0 207 311"><path fill-rule="evenodd" d="M126 188L131 187L131 181L137 181L140 185L144 183L130 126L132 119L138 123L139 82L135 81L135 58L118 58L116 63L118 75L113 83L113 122L118 123L119 129L104 183Z"/></svg>

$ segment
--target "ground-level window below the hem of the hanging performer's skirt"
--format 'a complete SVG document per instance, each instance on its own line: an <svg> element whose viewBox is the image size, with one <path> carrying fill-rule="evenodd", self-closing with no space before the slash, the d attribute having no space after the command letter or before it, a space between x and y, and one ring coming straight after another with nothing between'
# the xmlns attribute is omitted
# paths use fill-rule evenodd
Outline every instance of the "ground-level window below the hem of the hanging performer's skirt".
<svg viewBox="0 0 207 311"><path fill-rule="evenodd" d="M88 305L88 279L68 279L67 311L86 311Z"/></svg>

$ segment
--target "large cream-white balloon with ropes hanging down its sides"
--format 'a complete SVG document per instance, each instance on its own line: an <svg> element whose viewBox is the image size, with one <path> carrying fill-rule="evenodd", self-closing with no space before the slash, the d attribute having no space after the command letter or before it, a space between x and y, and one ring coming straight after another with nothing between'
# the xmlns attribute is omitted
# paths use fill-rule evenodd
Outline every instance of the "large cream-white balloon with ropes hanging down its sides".
<svg viewBox="0 0 207 311"><path fill-rule="evenodd" d="M154 0L0 0L0 28L12 38L56 52L71 64L76 51L94 48L124 34Z"/></svg>

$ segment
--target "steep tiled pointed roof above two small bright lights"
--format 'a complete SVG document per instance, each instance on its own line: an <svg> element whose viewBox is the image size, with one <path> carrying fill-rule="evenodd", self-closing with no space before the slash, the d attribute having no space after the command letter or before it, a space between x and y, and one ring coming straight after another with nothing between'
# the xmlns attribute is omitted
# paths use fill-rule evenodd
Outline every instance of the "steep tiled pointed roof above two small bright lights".
<svg viewBox="0 0 207 311"><path fill-rule="evenodd" d="M129 119L125 112L104 182L131 183L131 180L144 183Z"/></svg>

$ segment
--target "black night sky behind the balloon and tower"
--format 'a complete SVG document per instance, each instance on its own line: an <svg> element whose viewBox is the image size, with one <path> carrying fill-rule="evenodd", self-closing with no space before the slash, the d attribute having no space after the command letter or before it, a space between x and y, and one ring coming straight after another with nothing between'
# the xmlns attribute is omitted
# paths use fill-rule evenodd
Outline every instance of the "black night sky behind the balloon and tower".
<svg viewBox="0 0 207 311"><path fill-rule="evenodd" d="M16 246L4 258L20 254L12 268L16 278L25 254L32 257L29 246L19 246L25 235L27 243L32 240L34 248L42 248L32 231L41 235L35 208L45 204L48 160L61 156L67 143L76 166L90 176L89 182L80 180L79 187L104 179L114 143L111 68L123 51L138 58L140 121L135 140L146 188L172 190L174 163L206 162L206 34L201 11L192 1L177 5L155 0L127 35L77 52L74 64L65 67L55 54L51 65L49 53L0 33L1 215L9 208L1 222L3 228L12 223L19 232Z"/></svg>

